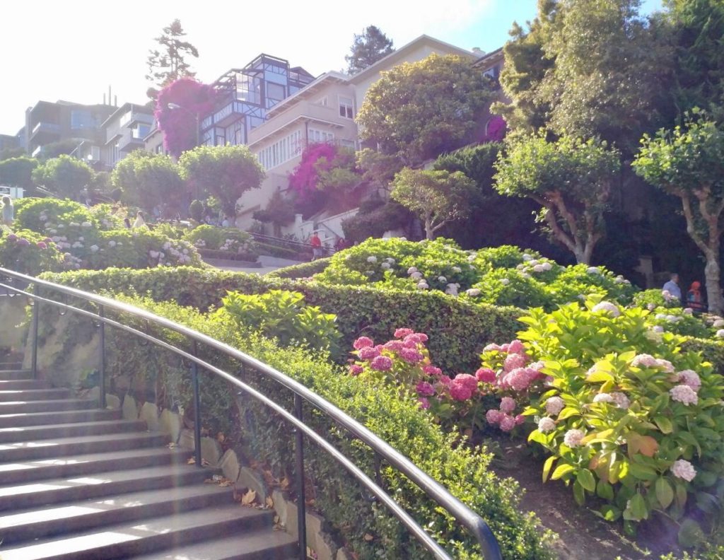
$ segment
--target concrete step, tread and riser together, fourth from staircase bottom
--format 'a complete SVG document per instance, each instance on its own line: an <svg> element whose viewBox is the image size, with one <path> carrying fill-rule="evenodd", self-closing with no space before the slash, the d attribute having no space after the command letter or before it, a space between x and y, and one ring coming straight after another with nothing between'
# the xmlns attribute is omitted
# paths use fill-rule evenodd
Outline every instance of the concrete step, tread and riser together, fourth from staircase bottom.
<svg viewBox="0 0 724 560"><path fill-rule="evenodd" d="M98 475L119 469L140 469L168 464L187 464L193 451L182 448L152 447L85 455L72 455L63 459L41 459L0 464L0 488L32 480ZM1 533L0 533L1 534Z"/></svg>

